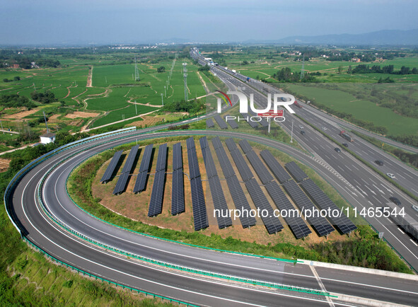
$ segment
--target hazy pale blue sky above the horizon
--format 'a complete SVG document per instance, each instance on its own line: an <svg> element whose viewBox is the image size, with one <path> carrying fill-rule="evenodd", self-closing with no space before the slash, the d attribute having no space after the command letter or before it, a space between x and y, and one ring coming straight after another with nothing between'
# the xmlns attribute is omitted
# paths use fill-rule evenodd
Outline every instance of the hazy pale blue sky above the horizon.
<svg viewBox="0 0 418 307"><path fill-rule="evenodd" d="M275 40L418 28L416 0L1 0L0 45Z"/></svg>

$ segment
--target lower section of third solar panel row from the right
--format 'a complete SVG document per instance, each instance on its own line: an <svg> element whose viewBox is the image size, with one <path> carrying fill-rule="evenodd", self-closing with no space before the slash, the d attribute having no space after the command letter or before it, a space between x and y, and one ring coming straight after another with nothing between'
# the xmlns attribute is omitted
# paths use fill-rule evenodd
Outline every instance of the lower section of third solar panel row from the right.
<svg viewBox="0 0 418 307"><path fill-rule="evenodd" d="M271 183L267 183L265 187L270 197L272 197L274 204L276 204L277 209L286 212L286 216L283 216L283 219L289 225L296 239L308 236L312 231L310 231L309 227L301 218L300 212L289 202L289 199L284 195L279 185L275 181L272 181Z"/></svg>

